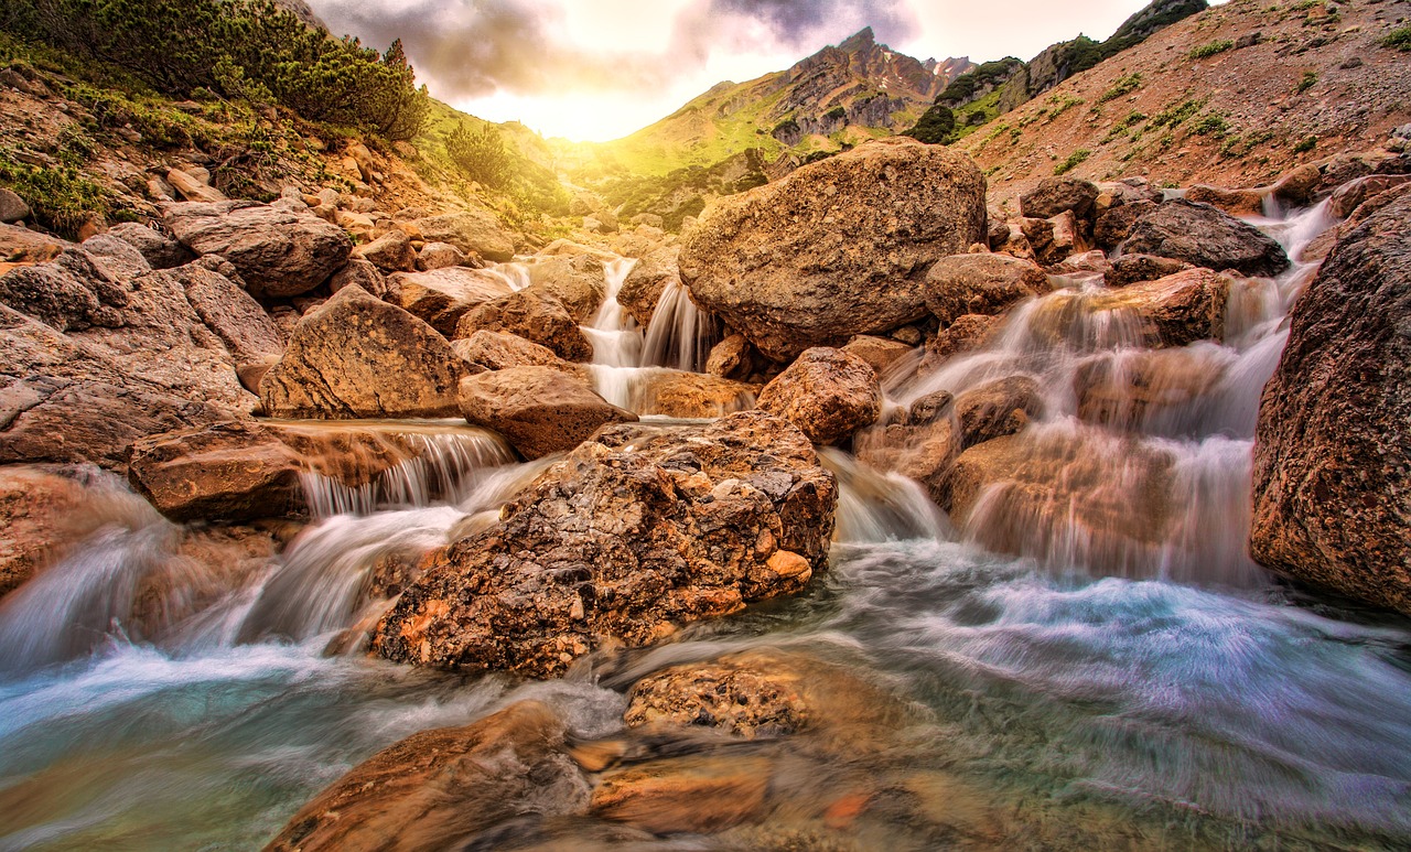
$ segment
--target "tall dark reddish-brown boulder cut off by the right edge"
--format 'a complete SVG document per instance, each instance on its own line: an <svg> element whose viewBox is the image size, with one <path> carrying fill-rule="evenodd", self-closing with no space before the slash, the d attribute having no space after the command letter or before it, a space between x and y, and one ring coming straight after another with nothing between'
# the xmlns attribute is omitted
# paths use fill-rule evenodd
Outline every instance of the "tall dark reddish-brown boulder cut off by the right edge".
<svg viewBox="0 0 1411 852"><path fill-rule="evenodd" d="M1250 553L1411 614L1411 196L1345 234L1294 306L1254 439Z"/></svg>

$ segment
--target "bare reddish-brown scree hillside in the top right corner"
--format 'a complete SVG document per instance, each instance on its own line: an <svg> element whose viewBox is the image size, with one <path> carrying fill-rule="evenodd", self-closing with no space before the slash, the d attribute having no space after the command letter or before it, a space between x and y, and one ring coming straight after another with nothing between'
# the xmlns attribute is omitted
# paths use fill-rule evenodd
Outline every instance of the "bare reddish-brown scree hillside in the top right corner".
<svg viewBox="0 0 1411 852"><path fill-rule="evenodd" d="M1233 0L1173 24L983 126L957 147L998 197L1071 172L1264 183L1374 148L1411 120L1411 62L1383 47L1405 0Z"/></svg>

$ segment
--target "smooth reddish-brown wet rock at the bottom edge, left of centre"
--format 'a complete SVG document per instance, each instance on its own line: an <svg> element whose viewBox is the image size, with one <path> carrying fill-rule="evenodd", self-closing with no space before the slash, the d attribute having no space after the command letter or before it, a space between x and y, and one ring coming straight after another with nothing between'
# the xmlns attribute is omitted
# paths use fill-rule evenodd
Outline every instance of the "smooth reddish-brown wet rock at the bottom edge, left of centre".
<svg viewBox="0 0 1411 852"><path fill-rule="evenodd" d="M515 818L583 811L588 784L563 722L521 701L461 728L422 731L364 760L295 814L270 852L476 849Z"/></svg>

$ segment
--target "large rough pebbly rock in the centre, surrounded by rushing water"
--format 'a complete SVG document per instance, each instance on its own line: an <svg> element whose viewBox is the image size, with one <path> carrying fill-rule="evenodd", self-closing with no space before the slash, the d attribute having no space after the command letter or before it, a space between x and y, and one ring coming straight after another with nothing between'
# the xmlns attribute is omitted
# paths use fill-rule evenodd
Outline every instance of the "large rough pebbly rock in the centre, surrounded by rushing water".
<svg viewBox="0 0 1411 852"><path fill-rule="evenodd" d="M501 522L429 559L378 625L391 660L546 677L602 643L794 592L827 560L837 482L789 423L614 426L550 467Z"/></svg>

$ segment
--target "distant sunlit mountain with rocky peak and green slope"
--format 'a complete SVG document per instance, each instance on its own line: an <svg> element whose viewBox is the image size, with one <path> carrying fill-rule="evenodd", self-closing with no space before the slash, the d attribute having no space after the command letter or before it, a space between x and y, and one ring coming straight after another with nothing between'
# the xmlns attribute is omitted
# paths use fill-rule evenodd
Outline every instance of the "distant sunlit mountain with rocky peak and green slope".
<svg viewBox="0 0 1411 852"><path fill-rule="evenodd" d="M921 62L878 44L872 28L786 71L720 83L666 118L597 145L563 145L562 162L586 179L666 175L748 150L799 158L892 135L916 123L967 58Z"/></svg>

